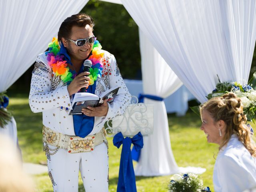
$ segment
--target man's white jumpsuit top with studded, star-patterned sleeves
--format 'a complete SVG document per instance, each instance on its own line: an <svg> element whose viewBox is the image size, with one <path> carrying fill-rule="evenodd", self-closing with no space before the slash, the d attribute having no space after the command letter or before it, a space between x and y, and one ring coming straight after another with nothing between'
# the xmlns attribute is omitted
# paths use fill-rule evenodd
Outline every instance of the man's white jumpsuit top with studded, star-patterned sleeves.
<svg viewBox="0 0 256 192"><path fill-rule="evenodd" d="M120 88L114 102L108 104L107 115L94 118L94 128L90 135L100 132L107 120L122 115L131 99L114 55L104 51L102 67L102 77L98 77L96 81L95 94L99 96L116 85ZM67 85L60 76L52 72L45 53L40 54L36 59L32 72L29 104L32 112L42 112L44 126L62 134L75 135L72 115L68 115L72 105Z"/></svg>

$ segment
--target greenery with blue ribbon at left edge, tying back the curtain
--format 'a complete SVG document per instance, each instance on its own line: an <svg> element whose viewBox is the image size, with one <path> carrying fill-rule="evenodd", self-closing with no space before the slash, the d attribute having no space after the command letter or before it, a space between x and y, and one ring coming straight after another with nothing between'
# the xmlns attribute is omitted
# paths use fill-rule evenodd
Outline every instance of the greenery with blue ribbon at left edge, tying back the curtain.
<svg viewBox="0 0 256 192"><path fill-rule="evenodd" d="M4 128L12 118L12 113L6 109L8 104L8 96L5 92L0 93L0 128Z"/></svg>

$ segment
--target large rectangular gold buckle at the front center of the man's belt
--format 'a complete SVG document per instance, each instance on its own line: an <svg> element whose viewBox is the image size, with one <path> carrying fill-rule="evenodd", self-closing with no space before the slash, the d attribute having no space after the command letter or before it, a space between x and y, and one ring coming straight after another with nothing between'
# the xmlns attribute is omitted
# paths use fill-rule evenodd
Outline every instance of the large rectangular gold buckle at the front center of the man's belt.
<svg viewBox="0 0 256 192"><path fill-rule="evenodd" d="M69 153L84 153L94 150L94 135L86 136L85 138L71 136L68 141Z"/></svg>

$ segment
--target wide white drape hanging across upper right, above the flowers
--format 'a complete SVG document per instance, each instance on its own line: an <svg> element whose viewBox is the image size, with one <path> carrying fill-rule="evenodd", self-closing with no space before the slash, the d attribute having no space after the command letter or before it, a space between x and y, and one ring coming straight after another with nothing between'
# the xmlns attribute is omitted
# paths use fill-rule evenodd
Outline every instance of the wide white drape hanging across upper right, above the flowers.
<svg viewBox="0 0 256 192"><path fill-rule="evenodd" d="M136 24L200 102L221 81L247 81L256 1L121 0Z"/></svg>

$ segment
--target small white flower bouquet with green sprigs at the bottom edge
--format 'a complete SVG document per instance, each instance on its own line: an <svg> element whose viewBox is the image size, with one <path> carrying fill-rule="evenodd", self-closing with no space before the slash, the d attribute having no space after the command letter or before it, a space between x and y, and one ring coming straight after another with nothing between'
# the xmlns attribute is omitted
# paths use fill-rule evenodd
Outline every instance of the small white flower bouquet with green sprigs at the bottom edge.
<svg viewBox="0 0 256 192"><path fill-rule="evenodd" d="M168 192L211 192L196 174L175 174L170 179Z"/></svg>

